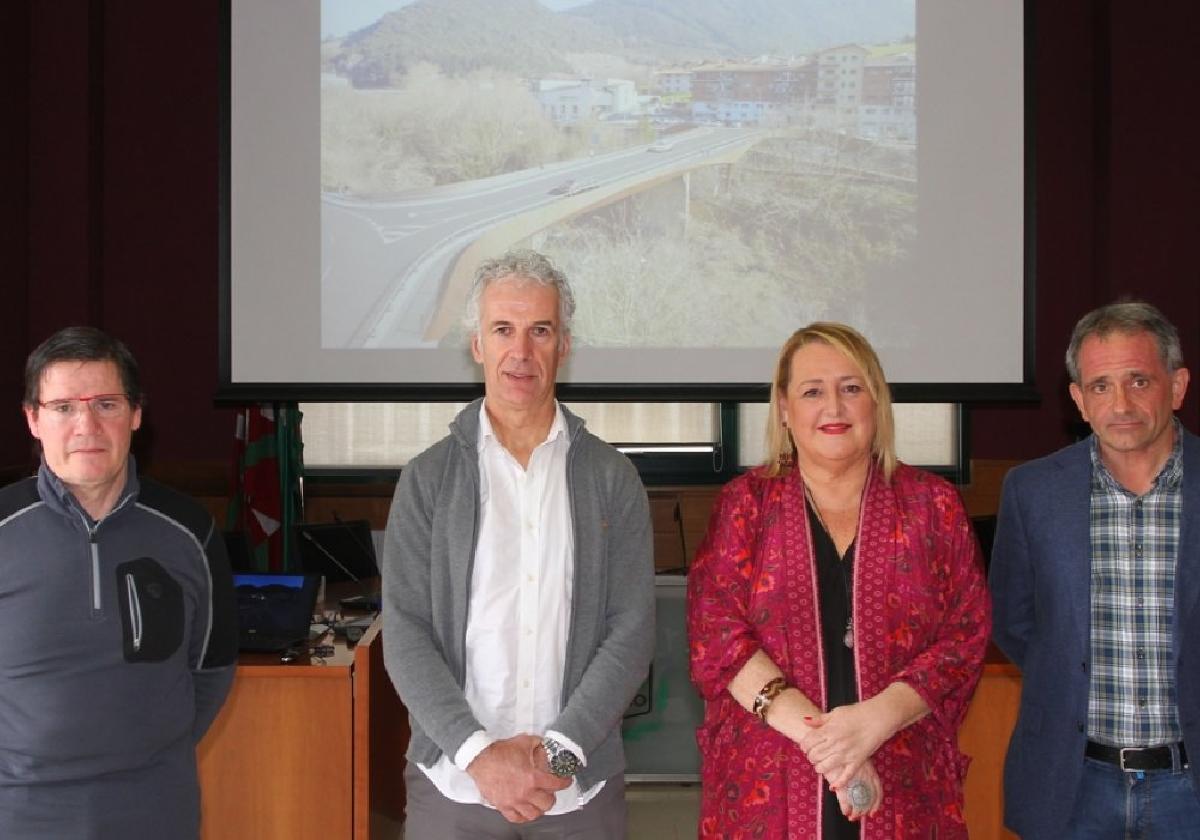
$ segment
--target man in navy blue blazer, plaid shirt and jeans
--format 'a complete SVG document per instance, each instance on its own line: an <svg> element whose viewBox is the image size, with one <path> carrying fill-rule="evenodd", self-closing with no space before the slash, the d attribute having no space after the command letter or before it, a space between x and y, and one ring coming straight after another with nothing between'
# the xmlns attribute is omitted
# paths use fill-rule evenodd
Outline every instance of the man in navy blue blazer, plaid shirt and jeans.
<svg viewBox="0 0 1200 840"><path fill-rule="evenodd" d="M1200 438L1174 414L1178 334L1112 304L1075 325L1067 367L1093 433L1008 474L992 552L995 638L1024 680L1004 822L1200 836Z"/></svg>

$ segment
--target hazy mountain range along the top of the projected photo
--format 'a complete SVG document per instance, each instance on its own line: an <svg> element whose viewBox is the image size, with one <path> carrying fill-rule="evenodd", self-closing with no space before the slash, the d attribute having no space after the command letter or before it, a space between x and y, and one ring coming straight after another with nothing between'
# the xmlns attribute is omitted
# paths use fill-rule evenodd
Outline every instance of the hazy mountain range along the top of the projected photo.
<svg viewBox="0 0 1200 840"><path fill-rule="evenodd" d="M388 88L419 64L448 76L492 70L533 78L589 72L578 55L635 67L792 56L911 38L913 28L913 0L595 0L562 12L538 0L418 0L323 55L326 70L354 86Z"/></svg>

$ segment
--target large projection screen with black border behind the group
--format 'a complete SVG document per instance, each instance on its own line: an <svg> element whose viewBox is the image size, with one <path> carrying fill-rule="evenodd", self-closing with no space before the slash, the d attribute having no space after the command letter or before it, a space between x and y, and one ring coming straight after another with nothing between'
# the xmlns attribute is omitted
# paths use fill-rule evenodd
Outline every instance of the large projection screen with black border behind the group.
<svg viewBox="0 0 1200 840"><path fill-rule="evenodd" d="M462 397L550 256L568 397L761 398L841 320L899 398L1032 386L1022 4L227 0L224 398Z"/></svg>

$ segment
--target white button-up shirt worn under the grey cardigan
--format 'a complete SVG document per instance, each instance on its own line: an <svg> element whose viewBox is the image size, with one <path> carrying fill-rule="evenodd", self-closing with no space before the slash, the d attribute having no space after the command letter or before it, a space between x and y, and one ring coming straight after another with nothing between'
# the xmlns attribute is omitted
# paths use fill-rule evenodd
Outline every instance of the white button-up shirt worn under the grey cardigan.
<svg viewBox="0 0 1200 840"><path fill-rule="evenodd" d="M470 578L464 694L484 728L454 755L421 769L444 797L484 804L467 767L490 744L522 732L545 733L577 755L580 746L547 726L562 712L563 664L571 624L575 544L566 488L566 421L554 406L546 439L522 468L479 410L479 541ZM547 814L582 808L600 792L578 782L558 791Z"/></svg>

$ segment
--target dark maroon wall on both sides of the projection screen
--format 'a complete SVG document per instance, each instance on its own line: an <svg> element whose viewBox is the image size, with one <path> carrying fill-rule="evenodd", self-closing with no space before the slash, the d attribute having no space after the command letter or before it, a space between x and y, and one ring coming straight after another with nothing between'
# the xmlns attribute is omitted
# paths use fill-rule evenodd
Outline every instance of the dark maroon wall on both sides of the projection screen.
<svg viewBox="0 0 1200 840"><path fill-rule="evenodd" d="M29 460L29 349L94 323L140 359L143 458L222 461L217 380L218 2L0 4L0 467ZM1162 306L1200 373L1192 2L1037 0L1037 406L971 412L972 455L1027 458L1072 439L1062 352L1121 294ZM25 37L22 37L22 34ZM980 313L985 317L985 313ZM1200 391L1200 383L1196 385ZM1196 394L1184 422L1198 428Z"/></svg>

